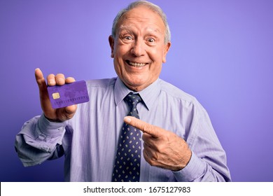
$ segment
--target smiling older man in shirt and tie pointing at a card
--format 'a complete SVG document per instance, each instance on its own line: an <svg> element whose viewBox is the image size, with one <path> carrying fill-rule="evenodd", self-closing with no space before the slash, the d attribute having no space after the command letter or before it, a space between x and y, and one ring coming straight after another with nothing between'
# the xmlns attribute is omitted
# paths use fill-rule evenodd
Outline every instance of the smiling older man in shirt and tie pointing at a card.
<svg viewBox="0 0 273 196"><path fill-rule="evenodd" d="M36 69L43 114L16 137L23 165L64 155L65 181L230 181L207 112L159 78L171 46L161 8L130 3L113 21L109 44L118 77L87 81L85 104L52 109ZM50 86L74 82L63 74L47 80Z"/></svg>

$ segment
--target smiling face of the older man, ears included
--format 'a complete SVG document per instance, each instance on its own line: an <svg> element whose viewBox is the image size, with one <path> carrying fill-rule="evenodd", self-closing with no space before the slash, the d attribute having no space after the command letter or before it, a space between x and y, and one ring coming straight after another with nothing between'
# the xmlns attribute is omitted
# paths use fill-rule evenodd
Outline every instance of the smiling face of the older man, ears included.
<svg viewBox="0 0 273 196"><path fill-rule="evenodd" d="M160 75L171 43L164 43L165 25L158 13L138 6L120 18L116 38L109 37L111 57L119 78L140 91Z"/></svg>

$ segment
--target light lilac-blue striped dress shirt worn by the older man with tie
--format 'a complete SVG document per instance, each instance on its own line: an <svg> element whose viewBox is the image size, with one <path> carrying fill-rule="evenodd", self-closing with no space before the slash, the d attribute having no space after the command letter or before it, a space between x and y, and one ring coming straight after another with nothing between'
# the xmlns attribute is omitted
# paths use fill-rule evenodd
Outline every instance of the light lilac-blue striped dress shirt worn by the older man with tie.
<svg viewBox="0 0 273 196"><path fill-rule="evenodd" d="M90 102L78 104L75 116L52 123L45 116L27 121L15 148L25 167L64 155L65 181L111 181L123 118L130 92L120 78L89 80ZM226 155L209 116L186 92L158 79L139 92L141 120L182 137L192 151L179 172L153 167L141 155L140 181L230 181Z"/></svg>

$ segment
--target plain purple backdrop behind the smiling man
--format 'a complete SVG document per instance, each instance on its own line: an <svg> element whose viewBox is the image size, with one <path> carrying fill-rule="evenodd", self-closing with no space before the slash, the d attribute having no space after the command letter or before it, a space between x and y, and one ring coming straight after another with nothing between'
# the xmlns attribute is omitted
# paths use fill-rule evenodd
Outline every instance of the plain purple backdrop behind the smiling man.
<svg viewBox="0 0 273 196"><path fill-rule="evenodd" d="M108 36L130 1L0 1L0 181L63 181L63 158L23 167L23 123L41 114L34 69L77 80L116 76ZM273 1L152 1L172 47L161 78L207 109L233 181L273 181Z"/></svg>

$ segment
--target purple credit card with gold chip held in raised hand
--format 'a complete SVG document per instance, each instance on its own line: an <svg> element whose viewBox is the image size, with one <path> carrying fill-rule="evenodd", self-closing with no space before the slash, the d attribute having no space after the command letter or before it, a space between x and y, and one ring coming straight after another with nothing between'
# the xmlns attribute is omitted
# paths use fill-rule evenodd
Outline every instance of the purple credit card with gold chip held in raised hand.
<svg viewBox="0 0 273 196"><path fill-rule="evenodd" d="M48 86L48 95L53 109L89 102L85 80L65 85Z"/></svg>

